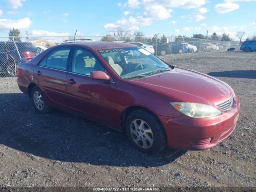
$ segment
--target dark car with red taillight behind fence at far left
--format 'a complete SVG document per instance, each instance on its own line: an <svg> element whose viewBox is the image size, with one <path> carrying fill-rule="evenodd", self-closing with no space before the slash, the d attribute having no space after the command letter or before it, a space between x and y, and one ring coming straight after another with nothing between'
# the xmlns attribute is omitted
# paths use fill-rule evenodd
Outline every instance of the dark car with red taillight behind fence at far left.
<svg viewBox="0 0 256 192"><path fill-rule="evenodd" d="M21 58L36 56L39 53L30 42L15 42L13 41L0 42L0 73L7 73L9 76L16 76L16 66Z"/></svg>

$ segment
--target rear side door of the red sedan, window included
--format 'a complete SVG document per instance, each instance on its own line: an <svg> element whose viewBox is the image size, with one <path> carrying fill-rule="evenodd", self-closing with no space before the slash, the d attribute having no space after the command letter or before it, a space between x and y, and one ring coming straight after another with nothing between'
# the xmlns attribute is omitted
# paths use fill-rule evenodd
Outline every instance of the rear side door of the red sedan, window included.
<svg viewBox="0 0 256 192"><path fill-rule="evenodd" d="M66 76L70 47L52 50L34 68L34 76L50 102L68 107Z"/></svg>

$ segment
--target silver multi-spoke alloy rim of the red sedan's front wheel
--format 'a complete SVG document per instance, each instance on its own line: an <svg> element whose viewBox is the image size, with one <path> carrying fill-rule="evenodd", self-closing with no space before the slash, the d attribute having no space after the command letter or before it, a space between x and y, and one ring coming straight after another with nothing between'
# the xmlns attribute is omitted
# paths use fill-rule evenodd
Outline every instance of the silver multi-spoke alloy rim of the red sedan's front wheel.
<svg viewBox="0 0 256 192"><path fill-rule="evenodd" d="M150 126L142 119L135 119L130 124L132 140L141 148L148 149L154 142Z"/></svg>

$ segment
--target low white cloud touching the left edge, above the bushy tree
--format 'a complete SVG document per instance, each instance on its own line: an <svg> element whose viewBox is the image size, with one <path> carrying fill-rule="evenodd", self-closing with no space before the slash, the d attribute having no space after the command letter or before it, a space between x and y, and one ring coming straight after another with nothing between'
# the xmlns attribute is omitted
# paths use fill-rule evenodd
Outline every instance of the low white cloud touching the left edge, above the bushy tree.
<svg viewBox="0 0 256 192"><path fill-rule="evenodd" d="M30 18L25 17L18 20L0 19L0 30L6 31L12 28L25 29L32 24Z"/></svg>

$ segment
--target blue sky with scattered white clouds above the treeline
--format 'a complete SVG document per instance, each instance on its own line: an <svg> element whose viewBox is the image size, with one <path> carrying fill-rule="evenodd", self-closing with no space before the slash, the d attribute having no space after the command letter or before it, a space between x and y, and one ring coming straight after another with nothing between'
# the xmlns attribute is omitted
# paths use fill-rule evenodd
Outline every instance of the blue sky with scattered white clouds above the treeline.
<svg viewBox="0 0 256 192"><path fill-rule="evenodd" d="M104 36L123 28L146 36L256 33L256 0L0 0L0 36Z"/></svg>

